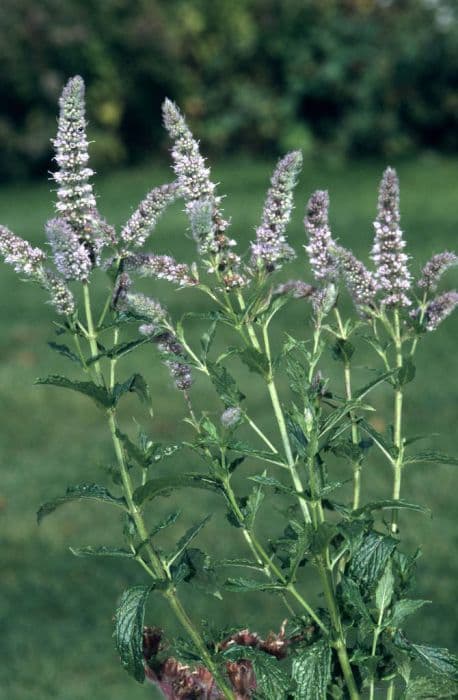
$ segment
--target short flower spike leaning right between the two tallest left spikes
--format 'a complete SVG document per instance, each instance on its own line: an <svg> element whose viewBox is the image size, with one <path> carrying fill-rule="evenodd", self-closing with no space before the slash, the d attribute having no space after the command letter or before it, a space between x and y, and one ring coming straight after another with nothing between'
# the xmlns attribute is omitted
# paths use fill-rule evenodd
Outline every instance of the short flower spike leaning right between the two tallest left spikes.
<svg viewBox="0 0 458 700"><path fill-rule="evenodd" d="M170 183L155 187L140 202L121 231L121 241L128 248L140 248L155 228L166 207L178 196L178 186Z"/></svg>

